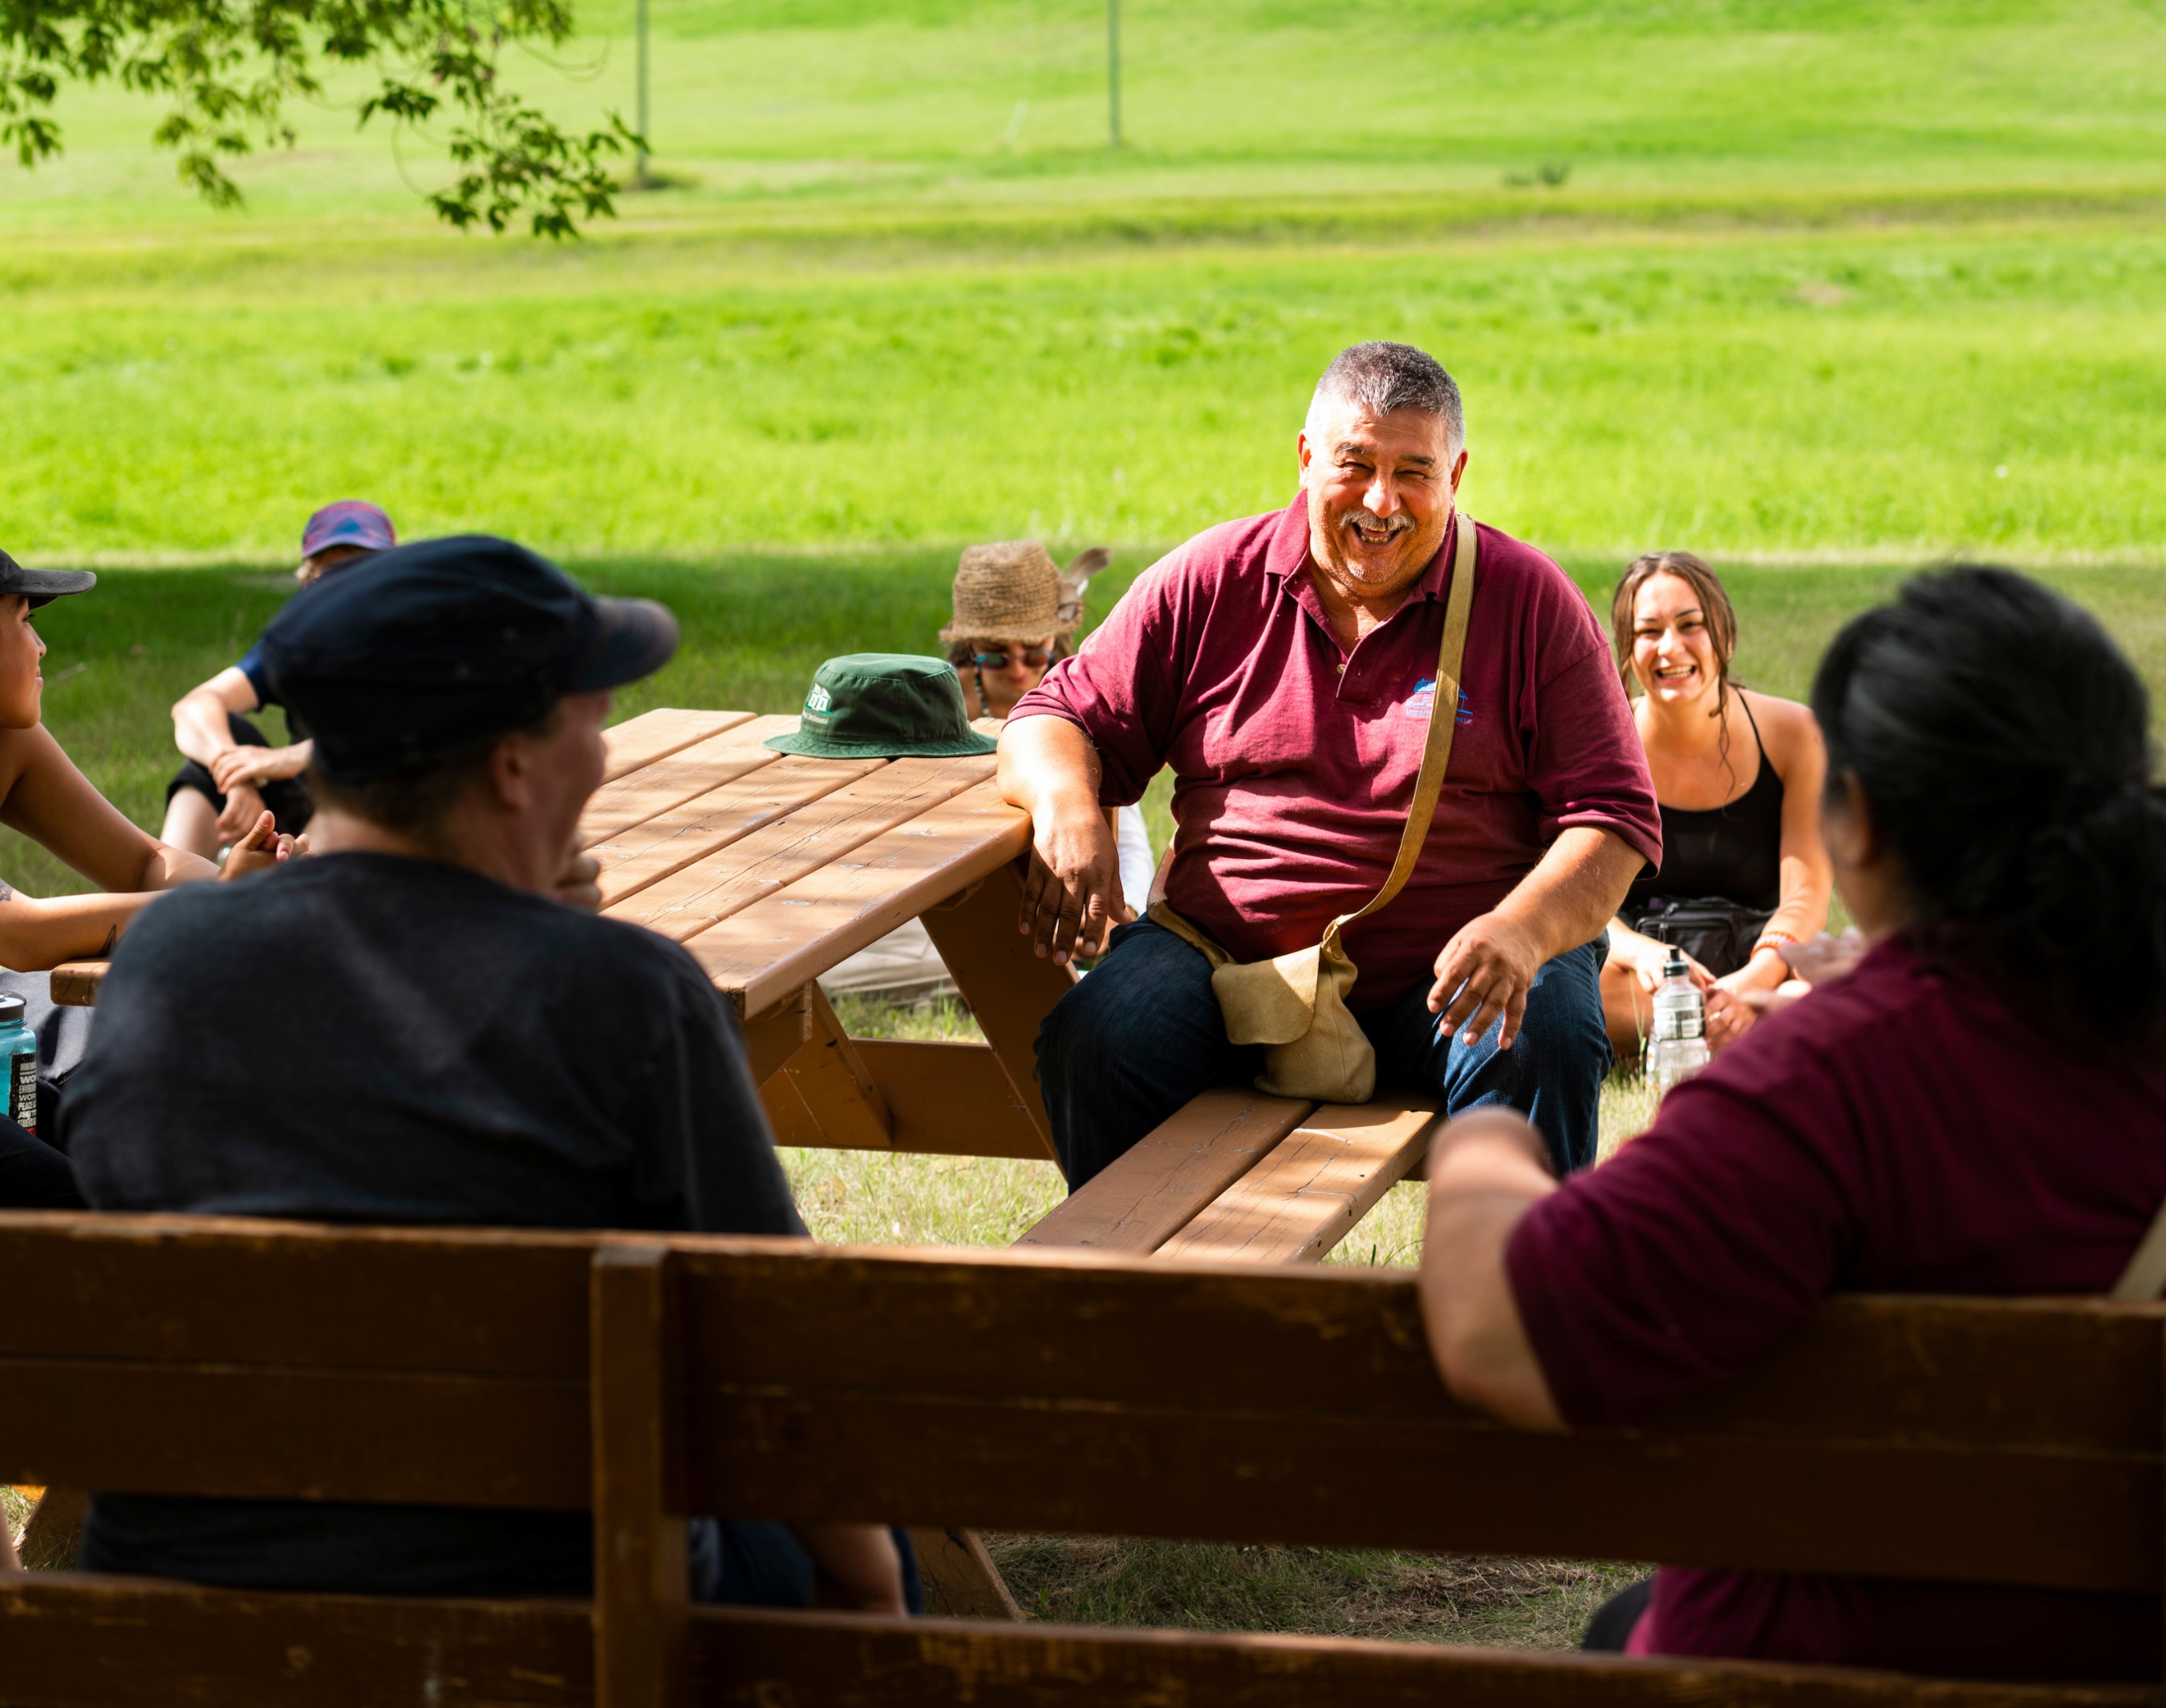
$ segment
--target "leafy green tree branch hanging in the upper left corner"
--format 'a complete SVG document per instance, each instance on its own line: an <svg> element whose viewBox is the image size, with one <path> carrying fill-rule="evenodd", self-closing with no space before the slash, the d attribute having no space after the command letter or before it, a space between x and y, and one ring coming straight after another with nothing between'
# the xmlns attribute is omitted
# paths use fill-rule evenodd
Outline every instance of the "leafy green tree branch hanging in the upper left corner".
<svg viewBox="0 0 2166 1708"><path fill-rule="evenodd" d="M457 175L429 195L440 219L505 232L526 216L535 236L572 238L615 212L606 162L639 139L615 113L565 132L505 82L507 48L570 35L563 0L0 0L0 145L24 167L50 160L61 89L115 82L169 102L152 139L210 206L234 208L227 162L290 147L288 106L323 97L331 67L366 67L364 126L451 123Z"/></svg>

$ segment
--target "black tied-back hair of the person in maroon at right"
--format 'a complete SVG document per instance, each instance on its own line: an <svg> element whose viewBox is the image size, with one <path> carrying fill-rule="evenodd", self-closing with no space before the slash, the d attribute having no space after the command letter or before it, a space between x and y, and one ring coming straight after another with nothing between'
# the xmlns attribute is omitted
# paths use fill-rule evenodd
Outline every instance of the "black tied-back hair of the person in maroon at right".
<svg viewBox="0 0 2166 1708"><path fill-rule="evenodd" d="M2095 1035L2166 1022L2166 790L2105 630L2012 569L1913 578L1813 678L1828 788L1856 775L1926 940Z"/></svg>

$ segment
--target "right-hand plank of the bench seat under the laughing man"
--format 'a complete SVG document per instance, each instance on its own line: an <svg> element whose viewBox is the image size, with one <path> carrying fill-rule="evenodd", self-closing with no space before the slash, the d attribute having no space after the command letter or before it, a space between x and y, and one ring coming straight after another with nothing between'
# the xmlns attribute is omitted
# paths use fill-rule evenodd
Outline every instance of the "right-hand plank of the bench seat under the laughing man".
<svg viewBox="0 0 2166 1708"><path fill-rule="evenodd" d="M1421 1160L1436 1100L1326 1104L1187 1227L1161 1258L1321 1262Z"/></svg>

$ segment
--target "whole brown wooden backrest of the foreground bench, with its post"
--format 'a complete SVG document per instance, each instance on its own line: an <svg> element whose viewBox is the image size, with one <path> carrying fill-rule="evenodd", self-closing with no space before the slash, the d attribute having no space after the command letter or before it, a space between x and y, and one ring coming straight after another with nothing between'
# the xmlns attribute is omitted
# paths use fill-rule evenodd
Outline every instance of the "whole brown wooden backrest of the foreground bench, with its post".
<svg viewBox="0 0 2166 1708"><path fill-rule="evenodd" d="M1835 1299L1644 1429L1412 1279L1072 1247L0 1214L0 1479L593 1515L591 1600L0 1580L0 1706L2160 1708L2157 1684L693 1608L684 1513L2160 1595L2166 1308Z"/></svg>

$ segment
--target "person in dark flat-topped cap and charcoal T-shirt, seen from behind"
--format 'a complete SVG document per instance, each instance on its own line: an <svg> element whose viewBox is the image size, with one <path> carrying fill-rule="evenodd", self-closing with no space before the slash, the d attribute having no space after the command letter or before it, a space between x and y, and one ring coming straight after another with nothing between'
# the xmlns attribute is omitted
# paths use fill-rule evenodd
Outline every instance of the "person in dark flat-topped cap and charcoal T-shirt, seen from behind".
<svg viewBox="0 0 2166 1708"><path fill-rule="evenodd" d="M316 732L310 851L145 911L65 1134L95 1208L804 1236L745 1043L684 944L598 914L611 688L676 649L507 539L431 539L264 632ZM230 903L230 905L221 905ZM570 903L570 905L567 905ZM747 1502L756 1505L756 1502ZM687 1522L697 1600L923 1606L879 1524ZM587 1513L106 1492L82 1565L264 1589L580 1595Z"/></svg>

